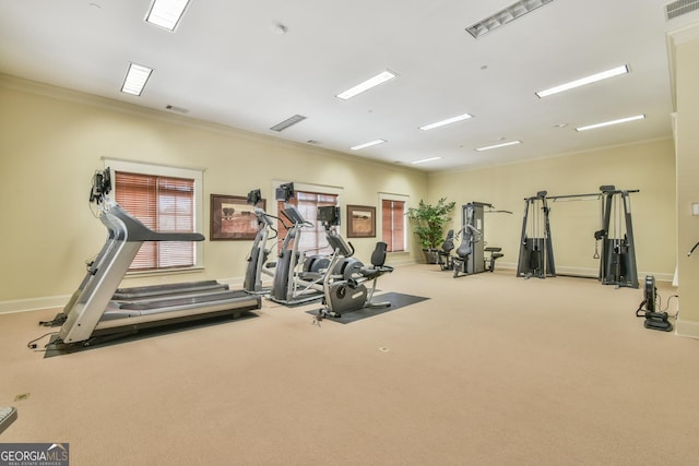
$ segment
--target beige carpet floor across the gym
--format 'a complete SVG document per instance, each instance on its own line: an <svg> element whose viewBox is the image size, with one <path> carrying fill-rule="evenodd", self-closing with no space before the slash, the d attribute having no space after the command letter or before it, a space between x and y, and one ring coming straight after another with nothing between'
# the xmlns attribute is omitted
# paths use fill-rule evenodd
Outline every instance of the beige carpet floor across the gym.
<svg viewBox="0 0 699 466"><path fill-rule="evenodd" d="M640 289L435 265L379 287L429 299L348 324L264 301L52 358L26 344L57 310L0 314L0 443L67 442L73 466L699 464L699 340L643 328Z"/></svg>

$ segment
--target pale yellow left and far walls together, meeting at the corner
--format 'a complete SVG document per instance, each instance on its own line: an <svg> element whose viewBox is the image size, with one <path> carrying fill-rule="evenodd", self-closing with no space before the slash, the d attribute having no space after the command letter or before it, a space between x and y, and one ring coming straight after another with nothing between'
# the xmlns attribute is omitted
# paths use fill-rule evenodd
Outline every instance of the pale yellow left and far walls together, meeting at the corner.
<svg viewBox="0 0 699 466"><path fill-rule="evenodd" d="M523 164L425 175L394 165L367 163L242 131L196 123L84 94L0 76L0 312L62 304L84 275L84 262L104 243L105 229L87 203L90 180L114 157L204 172L204 225L209 195L242 195L261 188L273 198L273 180L344 188L342 204L376 205L378 193L419 199L440 196L495 204L512 215L489 214L486 240L503 248L503 266L514 267L523 199L594 192L601 184L639 189L632 194L639 276L672 279L676 262L673 142L650 141ZM330 157L329 157L330 156ZM454 224L461 223L458 208ZM596 202L552 204L552 230L559 272L596 274L593 232ZM344 226L343 226L344 228ZM391 263L422 261L412 253ZM353 240L368 258L375 239ZM201 273L128 278L126 286L190 279L239 282L249 242L205 241Z"/></svg>

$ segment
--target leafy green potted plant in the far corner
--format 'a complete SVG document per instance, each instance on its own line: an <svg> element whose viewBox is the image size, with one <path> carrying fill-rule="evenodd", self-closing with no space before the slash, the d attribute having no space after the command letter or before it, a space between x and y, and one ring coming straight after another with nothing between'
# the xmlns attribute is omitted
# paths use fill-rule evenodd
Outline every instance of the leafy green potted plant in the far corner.
<svg viewBox="0 0 699 466"><path fill-rule="evenodd" d="M449 214L453 211L455 202L447 202L447 198L441 198L437 204L427 204L422 199L417 207L407 210L407 218L415 225L415 235L419 239L419 244L425 252L425 260L428 264L436 264L438 258L438 247L445 240L445 225L451 220Z"/></svg>

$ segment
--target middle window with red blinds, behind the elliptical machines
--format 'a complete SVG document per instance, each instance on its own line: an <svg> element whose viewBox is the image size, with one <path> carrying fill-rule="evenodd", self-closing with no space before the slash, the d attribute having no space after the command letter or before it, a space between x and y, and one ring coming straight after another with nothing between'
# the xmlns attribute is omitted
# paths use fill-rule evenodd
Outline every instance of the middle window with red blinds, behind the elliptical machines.
<svg viewBox="0 0 699 466"><path fill-rule="evenodd" d="M288 204L294 205L304 219L315 225L313 228L304 228L300 242L298 243L298 250L318 254L331 253L332 250L325 240L325 229L318 223L318 207L337 205L337 195L296 190L295 196L288 200ZM277 201L277 211L282 212L282 208L284 208L284 202ZM288 224L286 218L284 222ZM285 238L286 228L284 228L281 222L279 222L279 230L280 238ZM280 242L279 248L281 249L281 247L282 243Z"/></svg>

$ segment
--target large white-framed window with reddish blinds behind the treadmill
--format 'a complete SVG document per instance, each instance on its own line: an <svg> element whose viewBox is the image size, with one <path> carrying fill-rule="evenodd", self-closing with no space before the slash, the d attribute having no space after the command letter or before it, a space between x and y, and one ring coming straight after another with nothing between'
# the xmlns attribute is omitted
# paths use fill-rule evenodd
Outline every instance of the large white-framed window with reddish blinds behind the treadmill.
<svg viewBox="0 0 699 466"><path fill-rule="evenodd" d="M106 160L114 170L114 199L155 231L201 231L199 170ZM201 241L146 241L130 272L200 267Z"/></svg>

